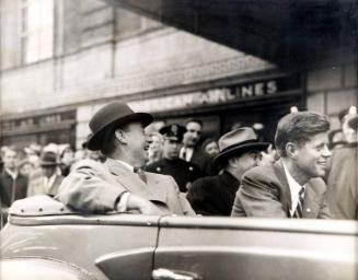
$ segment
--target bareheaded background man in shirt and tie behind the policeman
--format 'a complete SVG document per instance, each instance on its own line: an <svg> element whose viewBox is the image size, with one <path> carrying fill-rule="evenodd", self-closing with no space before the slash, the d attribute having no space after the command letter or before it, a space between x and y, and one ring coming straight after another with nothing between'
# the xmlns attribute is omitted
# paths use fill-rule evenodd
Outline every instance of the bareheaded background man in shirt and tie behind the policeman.
<svg viewBox="0 0 358 280"><path fill-rule="evenodd" d="M195 163L203 174L208 174L210 156L203 152L199 145L201 132L201 120L192 118L186 122L186 132L184 133L180 158L186 162Z"/></svg>

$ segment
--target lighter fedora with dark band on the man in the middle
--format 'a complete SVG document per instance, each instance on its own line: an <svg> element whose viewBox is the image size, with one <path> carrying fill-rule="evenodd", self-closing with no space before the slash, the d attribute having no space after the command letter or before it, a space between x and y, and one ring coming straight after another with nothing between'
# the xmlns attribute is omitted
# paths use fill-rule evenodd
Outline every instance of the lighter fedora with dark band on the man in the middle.
<svg viewBox="0 0 358 280"><path fill-rule="evenodd" d="M212 163L218 165L233 155L239 155L250 150L265 150L269 143L258 142L256 133L251 127L241 127L224 133L219 139L219 154Z"/></svg>

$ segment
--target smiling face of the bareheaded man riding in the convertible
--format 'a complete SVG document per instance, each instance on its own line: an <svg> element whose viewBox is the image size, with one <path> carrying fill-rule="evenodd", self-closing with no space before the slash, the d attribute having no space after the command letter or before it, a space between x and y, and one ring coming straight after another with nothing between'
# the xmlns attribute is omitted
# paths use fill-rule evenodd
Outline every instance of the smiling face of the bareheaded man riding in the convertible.
<svg viewBox="0 0 358 280"><path fill-rule="evenodd" d="M325 175L332 155L327 144L327 133L322 132L312 136L305 143L297 145L295 163L307 180Z"/></svg>

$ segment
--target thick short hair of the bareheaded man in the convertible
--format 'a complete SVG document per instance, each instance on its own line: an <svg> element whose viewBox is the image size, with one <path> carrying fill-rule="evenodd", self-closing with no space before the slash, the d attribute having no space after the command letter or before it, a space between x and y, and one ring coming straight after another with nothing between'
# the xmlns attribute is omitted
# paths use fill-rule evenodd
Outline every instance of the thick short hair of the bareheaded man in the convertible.
<svg viewBox="0 0 358 280"><path fill-rule="evenodd" d="M288 142L302 144L316 133L330 130L328 117L313 112L297 112L284 116L277 125L275 145L280 156L286 158Z"/></svg>

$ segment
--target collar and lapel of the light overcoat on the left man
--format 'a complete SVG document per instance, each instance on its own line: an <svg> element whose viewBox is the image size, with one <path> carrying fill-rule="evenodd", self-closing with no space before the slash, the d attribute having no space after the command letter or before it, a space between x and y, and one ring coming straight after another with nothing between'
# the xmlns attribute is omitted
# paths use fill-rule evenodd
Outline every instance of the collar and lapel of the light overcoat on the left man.
<svg viewBox="0 0 358 280"><path fill-rule="evenodd" d="M116 176L116 180L129 192L145 197L152 201L166 203L166 187L161 185L154 174L145 172L147 184L139 176L129 171L118 161L107 159L105 162L108 171Z"/></svg>

